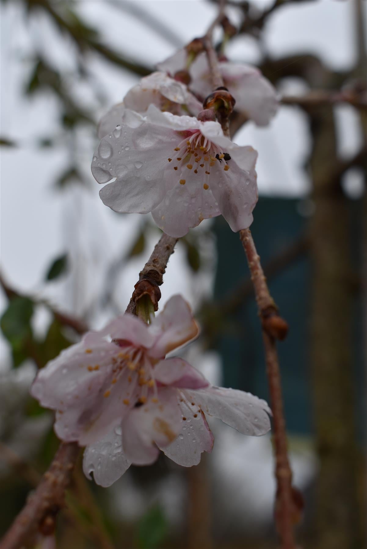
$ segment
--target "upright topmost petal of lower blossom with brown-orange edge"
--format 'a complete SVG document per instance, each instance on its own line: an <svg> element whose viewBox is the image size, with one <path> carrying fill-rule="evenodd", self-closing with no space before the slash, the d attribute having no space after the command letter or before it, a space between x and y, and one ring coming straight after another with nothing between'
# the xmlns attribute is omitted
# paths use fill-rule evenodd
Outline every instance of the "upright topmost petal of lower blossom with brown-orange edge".
<svg viewBox="0 0 367 549"><path fill-rule="evenodd" d="M155 337L155 343L149 350L149 355L153 357L164 357L199 333L190 306L181 295L174 295L166 302L149 329Z"/></svg>

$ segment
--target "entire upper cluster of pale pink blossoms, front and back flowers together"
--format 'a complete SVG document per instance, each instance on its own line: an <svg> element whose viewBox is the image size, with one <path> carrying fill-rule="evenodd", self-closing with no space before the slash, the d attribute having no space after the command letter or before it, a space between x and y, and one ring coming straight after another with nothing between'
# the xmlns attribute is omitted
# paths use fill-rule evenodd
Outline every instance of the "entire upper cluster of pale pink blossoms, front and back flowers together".
<svg viewBox="0 0 367 549"><path fill-rule="evenodd" d="M207 58L190 65L190 89L174 79L185 50L160 63L101 120L92 173L109 184L99 193L116 212L147 214L165 233L182 237L204 219L223 215L233 231L251 225L257 203L257 153L224 136L218 122L196 118L212 90ZM275 90L249 66L221 61L236 105L259 125L276 110ZM169 74L167 74L169 73ZM196 96L192 93L194 92Z"/></svg>

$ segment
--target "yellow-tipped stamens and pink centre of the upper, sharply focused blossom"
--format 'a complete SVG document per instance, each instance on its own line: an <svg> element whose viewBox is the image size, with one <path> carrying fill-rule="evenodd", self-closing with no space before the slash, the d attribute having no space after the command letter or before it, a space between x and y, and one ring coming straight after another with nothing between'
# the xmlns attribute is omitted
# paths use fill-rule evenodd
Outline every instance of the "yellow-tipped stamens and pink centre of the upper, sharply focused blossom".
<svg viewBox="0 0 367 549"><path fill-rule="evenodd" d="M230 169L228 161L231 156L223 152L210 139L203 136L201 131L195 131L189 138L183 139L177 147L174 148L172 158L168 158L170 166L179 173L179 182L181 185L186 183L186 170L193 170L193 173L201 172L205 174L203 188L209 188L210 169L219 163L224 171ZM178 174L177 174L178 175Z"/></svg>

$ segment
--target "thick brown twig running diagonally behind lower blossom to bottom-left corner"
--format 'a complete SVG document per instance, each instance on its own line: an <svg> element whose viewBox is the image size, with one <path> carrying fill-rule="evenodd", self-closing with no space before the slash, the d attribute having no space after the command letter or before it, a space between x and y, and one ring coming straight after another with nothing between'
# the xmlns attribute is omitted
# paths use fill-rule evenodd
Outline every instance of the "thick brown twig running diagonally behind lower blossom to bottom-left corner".
<svg viewBox="0 0 367 549"><path fill-rule="evenodd" d="M136 286L142 281L148 281L156 284L158 288L163 283L167 262L173 254L176 242L177 238L162 234L151 257L144 265ZM15 290L5 284L3 279L1 279L1 284L9 299L12 299L12 296L16 295ZM126 312L134 313L135 308L135 301L131 300ZM79 450L80 448L76 442L62 442L60 444L51 466L42 477L41 483L35 492L29 496L24 508L3 537L0 549L19 549L25 541L28 542L31 536L37 533L37 530L41 529L42 531L44 524L49 526L49 523L51 525L54 523L59 509L64 504L65 488L70 483L71 472L75 466Z"/></svg>

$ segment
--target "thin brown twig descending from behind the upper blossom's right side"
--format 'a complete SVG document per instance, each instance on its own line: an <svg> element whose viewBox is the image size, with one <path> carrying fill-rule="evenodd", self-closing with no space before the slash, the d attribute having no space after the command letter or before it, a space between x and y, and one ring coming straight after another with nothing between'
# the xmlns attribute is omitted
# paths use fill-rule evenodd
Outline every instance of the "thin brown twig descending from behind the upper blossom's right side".
<svg viewBox="0 0 367 549"><path fill-rule="evenodd" d="M277 2L275 2L274 5L276 4ZM209 37L208 35L205 35L204 40L208 63L210 70L212 71L213 88L215 89L223 86L223 79L219 72L218 58L214 51L210 35ZM222 115L220 122L225 135L230 137L228 118ZM266 374L268 376L271 408L273 411L276 462L275 477L277 481L277 496L275 502L276 526L281 539L282 549L294 549L292 472L287 455L287 436L283 414L279 361L275 340L275 338L283 339L283 337L285 337L287 333L287 323L279 316L275 302L270 295L264 272L260 264L260 257L255 248L250 229L243 229L240 231L240 238L247 256L263 328Z"/></svg>

